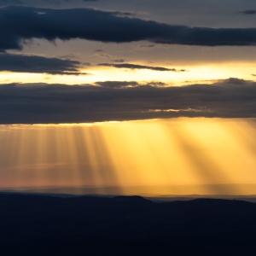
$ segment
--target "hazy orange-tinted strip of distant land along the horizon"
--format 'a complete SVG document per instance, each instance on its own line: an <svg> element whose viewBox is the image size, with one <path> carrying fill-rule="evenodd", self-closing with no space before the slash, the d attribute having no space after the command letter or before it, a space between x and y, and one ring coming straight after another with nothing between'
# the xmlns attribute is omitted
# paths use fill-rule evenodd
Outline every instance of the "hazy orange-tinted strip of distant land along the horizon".
<svg viewBox="0 0 256 256"><path fill-rule="evenodd" d="M79 186L6 188L0 191L66 195L142 195L144 197L178 196L249 196L256 195L256 184L205 184L168 186Z"/></svg>

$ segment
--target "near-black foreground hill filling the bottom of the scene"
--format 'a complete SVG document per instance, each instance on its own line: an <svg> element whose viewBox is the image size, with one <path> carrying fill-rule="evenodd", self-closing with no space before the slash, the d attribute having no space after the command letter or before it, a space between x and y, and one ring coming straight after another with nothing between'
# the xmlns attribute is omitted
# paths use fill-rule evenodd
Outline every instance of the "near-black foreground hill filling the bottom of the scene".
<svg viewBox="0 0 256 256"><path fill-rule="evenodd" d="M1 255L256 255L256 204L0 194Z"/></svg>

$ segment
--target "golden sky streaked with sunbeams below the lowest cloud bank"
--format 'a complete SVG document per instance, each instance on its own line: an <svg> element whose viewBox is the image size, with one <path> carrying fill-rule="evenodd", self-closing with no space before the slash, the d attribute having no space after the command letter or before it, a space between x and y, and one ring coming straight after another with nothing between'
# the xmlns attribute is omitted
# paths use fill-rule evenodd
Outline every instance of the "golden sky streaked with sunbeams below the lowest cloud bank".
<svg viewBox="0 0 256 256"><path fill-rule="evenodd" d="M243 184L232 193L244 195L252 191L244 184L256 183L255 153L255 119L0 125L0 187L86 185L104 194L116 186L129 194L131 186L148 186L143 193L187 194L182 186ZM196 191L230 194L213 187Z"/></svg>

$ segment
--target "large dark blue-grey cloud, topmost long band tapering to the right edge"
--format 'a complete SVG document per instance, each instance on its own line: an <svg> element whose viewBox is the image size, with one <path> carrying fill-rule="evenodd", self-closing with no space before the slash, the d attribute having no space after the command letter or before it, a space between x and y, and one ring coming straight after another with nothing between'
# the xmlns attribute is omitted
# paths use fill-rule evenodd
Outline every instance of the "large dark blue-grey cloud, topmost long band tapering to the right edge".
<svg viewBox="0 0 256 256"><path fill-rule="evenodd" d="M172 26L141 20L120 12L98 9L37 9L9 6L0 9L0 50L21 49L24 40L81 38L125 43L140 40L160 44L255 45L256 28Z"/></svg>

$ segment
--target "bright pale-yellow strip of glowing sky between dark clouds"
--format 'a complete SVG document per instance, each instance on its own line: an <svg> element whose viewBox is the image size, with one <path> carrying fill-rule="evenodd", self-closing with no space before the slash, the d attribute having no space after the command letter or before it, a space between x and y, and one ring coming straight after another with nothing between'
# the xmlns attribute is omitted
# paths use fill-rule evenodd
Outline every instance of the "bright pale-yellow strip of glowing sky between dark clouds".
<svg viewBox="0 0 256 256"><path fill-rule="evenodd" d="M144 65L144 63L140 63ZM166 68L172 68L165 66ZM176 66L177 67L177 66ZM82 69L81 73L88 75L50 75L42 73L0 73L0 84L8 83L49 83L49 84L94 84L102 81L137 81L145 84L155 81L172 85L192 83L211 83L212 80L238 77L240 79L255 80L253 63L218 63L198 66L181 66L185 72L160 72L151 70L118 70L113 67L90 67ZM145 79L147 78L147 79Z"/></svg>

